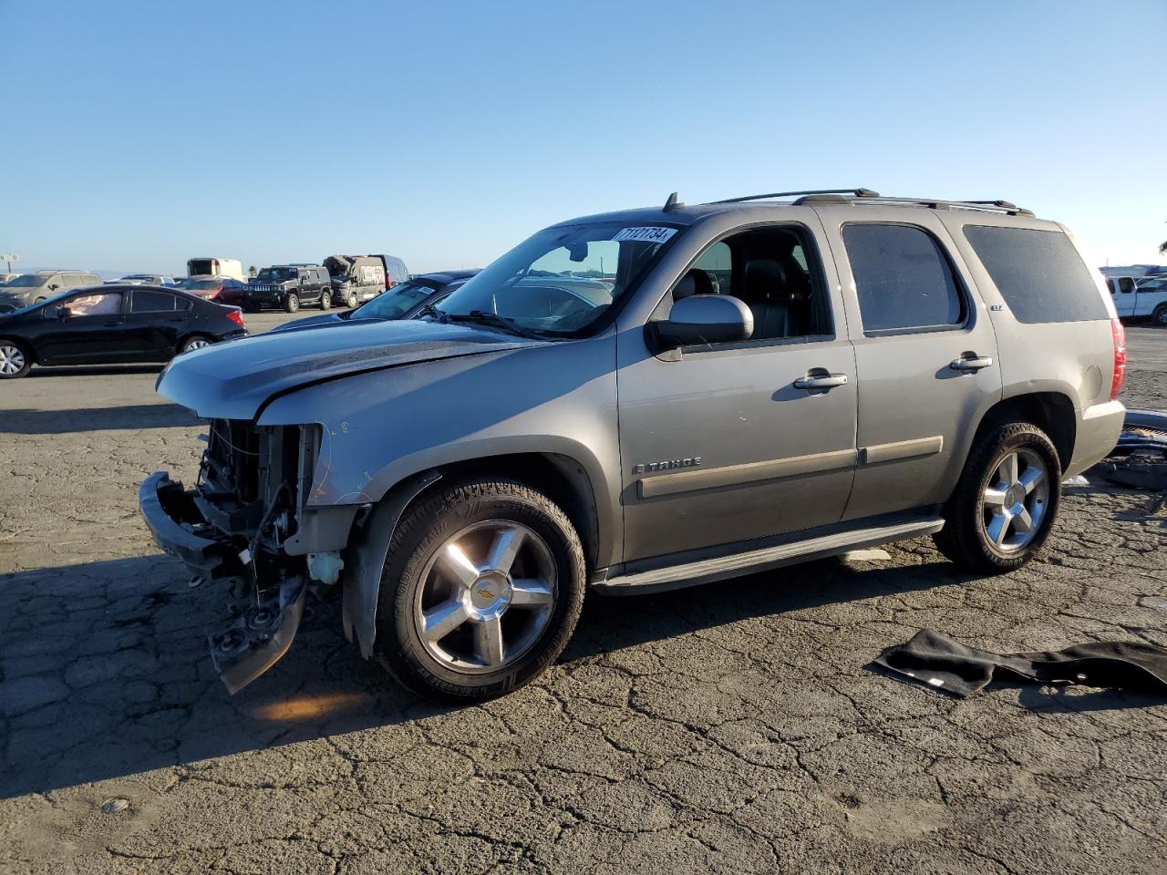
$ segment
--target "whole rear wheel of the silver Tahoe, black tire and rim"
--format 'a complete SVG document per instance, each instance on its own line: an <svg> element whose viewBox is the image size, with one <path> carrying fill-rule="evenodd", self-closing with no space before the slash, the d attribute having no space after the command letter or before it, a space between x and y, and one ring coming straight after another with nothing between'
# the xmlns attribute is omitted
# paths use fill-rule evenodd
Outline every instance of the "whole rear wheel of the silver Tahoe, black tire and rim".
<svg viewBox="0 0 1167 875"><path fill-rule="evenodd" d="M932 540L965 568L1012 572L1041 550L1061 498L1062 464L1049 435L1032 422L1002 425L973 444ZM1019 504L1023 516L1014 513Z"/></svg>

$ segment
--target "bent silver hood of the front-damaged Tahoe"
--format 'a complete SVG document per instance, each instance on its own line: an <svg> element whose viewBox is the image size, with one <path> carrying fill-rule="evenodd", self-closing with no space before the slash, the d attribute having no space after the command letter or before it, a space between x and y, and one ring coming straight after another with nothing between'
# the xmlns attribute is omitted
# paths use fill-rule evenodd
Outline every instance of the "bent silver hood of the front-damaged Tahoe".
<svg viewBox="0 0 1167 875"><path fill-rule="evenodd" d="M254 419L264 402L310 383L383 368L536 346L468 324L391 321L344 331L278 331L204 346L174 358L158 392L205 419Z"/></svg>

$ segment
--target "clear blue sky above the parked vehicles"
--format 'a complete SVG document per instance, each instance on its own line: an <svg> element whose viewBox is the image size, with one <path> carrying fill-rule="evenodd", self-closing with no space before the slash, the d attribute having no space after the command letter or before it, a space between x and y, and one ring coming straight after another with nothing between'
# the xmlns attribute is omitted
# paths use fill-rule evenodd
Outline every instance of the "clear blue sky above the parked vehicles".
<svg viewBox="0 0 1167 875"><path fill-rule="evenodd" d="M1155 261L1165 36L1163 0L0 0L0 252L420 272L675 189L868 186Z"/></svg>

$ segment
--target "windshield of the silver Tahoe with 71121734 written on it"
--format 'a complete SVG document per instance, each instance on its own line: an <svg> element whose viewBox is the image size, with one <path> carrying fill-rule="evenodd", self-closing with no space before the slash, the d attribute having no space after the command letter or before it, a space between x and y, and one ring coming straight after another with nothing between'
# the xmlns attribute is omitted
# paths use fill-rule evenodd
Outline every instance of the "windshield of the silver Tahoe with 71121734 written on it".
<svg viewBox="0 0 1167 875"><path fill-rule="evenodd" d="M579 336L635 290L675 226L560 225L519 244L441 303L442 317L503 317L518 329Z"/></svg>

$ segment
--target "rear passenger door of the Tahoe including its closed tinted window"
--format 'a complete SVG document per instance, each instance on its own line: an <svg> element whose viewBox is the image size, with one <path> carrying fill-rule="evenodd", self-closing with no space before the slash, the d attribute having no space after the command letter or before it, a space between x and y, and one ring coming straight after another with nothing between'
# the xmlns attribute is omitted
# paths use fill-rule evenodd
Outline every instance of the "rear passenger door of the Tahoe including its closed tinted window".
<svg viewBox="0 0 1167 875"><path fill-rule="evenodd" d="M820 210L855 349L859 464L844 519L942 504L1001 396L997 338L929 210Z"/></svg>

